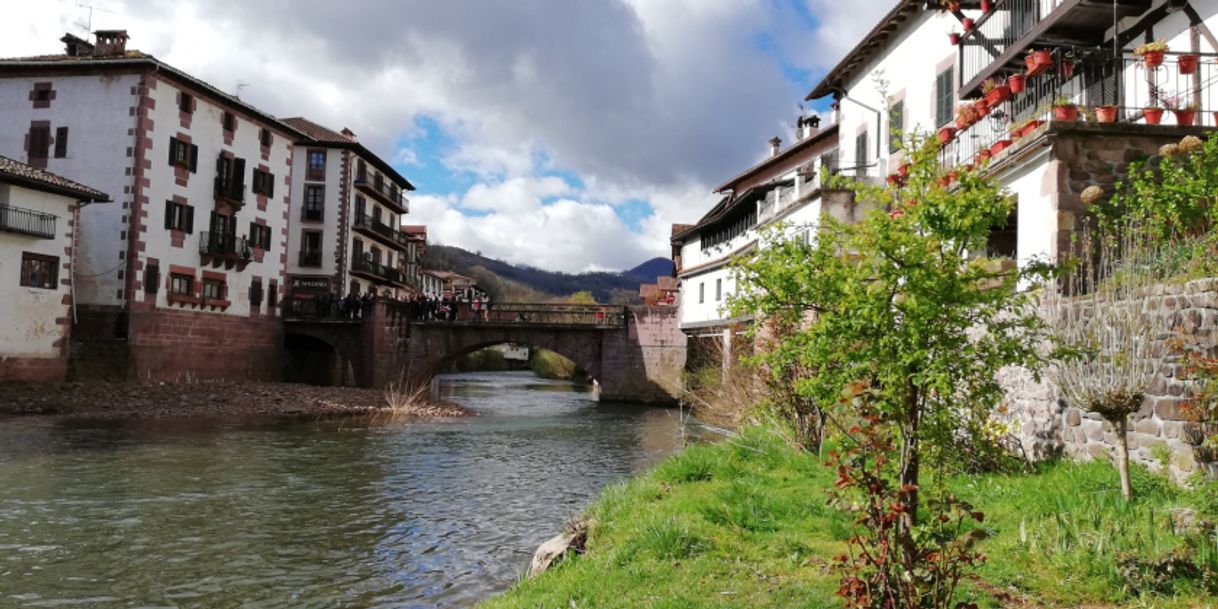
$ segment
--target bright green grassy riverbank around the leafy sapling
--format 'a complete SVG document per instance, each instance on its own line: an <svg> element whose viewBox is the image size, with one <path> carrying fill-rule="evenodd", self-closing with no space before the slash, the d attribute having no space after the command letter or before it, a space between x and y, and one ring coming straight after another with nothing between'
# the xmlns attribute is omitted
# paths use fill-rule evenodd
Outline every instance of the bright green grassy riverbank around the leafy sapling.
<svg viewBox="0 0 1218 609"><path fill-rule="evenodd" d="M776 432L693 446L605 491L588 509L586 554L482 607L842 607L829 560L850 524L826 505L832 482L815 456L793 452ZM1203 503L1144 470L1135 485L1139 496L1125 504L1104 463L954 481L991 535L989 561L966 594L991 608L1218 605L1196 581L1149 592L1147 581L1122 572L1123 553L1155 559L1184 546L1172 510Z"/></svg>

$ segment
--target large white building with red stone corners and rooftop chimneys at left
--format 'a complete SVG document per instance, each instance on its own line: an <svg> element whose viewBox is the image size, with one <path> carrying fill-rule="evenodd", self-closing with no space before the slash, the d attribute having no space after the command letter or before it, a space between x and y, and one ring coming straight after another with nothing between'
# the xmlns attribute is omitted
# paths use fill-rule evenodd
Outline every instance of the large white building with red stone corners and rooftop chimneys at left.
<svg viewBox="0 0 1218 609"><path fill-rule="evenodd" d="M116 199L82 213L78 337L117 341L138 378L279 378L301 134L123 30L61 40L0 60L0 153Z"/></svg>

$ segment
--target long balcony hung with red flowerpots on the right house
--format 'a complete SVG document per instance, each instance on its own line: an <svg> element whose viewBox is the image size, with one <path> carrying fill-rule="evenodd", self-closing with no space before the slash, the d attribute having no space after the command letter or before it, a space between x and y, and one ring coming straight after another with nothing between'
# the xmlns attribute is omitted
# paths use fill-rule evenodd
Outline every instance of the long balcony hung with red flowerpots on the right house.
<svg viewBox="0 0 1218 609"><path fill-rule="evenodd" d="M944 166L968 169L1039 140L1054 125L1104 133L1195 133L1218 125L1218 55L1147 43L1106 50L1037 49L1024 68L983 83L938 133ZM1047 127L1046 127L1047 125Z"/></svg>

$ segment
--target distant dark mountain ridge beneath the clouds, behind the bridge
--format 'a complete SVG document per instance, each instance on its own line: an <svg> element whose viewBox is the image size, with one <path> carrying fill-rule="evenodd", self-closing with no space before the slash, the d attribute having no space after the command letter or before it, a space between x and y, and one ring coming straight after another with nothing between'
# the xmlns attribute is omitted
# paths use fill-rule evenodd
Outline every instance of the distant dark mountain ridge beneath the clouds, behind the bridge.
<svg viewBox="0 0 1218 609"><path fill-rule="evenodd" d="M428 245L425 264L474 278L499 302L546 302L588 291L597 302L631 304L638 302L638 284L672 273L671 261L655 258L624 273L575 275L510 264L448 245Z"/></svg>

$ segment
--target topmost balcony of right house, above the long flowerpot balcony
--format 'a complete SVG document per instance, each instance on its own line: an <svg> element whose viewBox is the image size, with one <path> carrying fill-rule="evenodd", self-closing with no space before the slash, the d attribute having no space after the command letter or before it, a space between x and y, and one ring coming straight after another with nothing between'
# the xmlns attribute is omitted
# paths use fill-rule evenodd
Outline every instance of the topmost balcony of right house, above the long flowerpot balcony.
<svg viewBox="0 0 1218 609"><path fill-rule="evenodd" d="M960 97L976 95L987 78L1018 72L1028 49L1099 48L1113 12L1124 18L1150 6L1150 0L998 0L961 37Z"/></svg>

